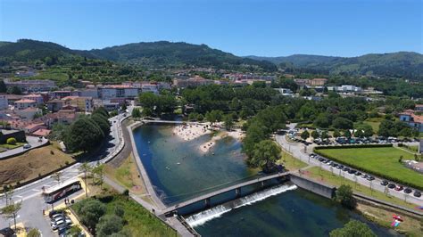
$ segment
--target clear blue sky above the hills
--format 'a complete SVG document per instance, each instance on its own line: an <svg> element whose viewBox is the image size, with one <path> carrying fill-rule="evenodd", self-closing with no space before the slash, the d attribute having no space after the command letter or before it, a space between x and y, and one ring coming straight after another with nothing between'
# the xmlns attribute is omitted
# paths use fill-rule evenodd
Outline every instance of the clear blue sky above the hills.
<svg viewBox="0 0 423 237"><path fill-rule="evenodd" d="M236 55L423 53L423 0L0 0L0 41L168 40Z"/></svg>

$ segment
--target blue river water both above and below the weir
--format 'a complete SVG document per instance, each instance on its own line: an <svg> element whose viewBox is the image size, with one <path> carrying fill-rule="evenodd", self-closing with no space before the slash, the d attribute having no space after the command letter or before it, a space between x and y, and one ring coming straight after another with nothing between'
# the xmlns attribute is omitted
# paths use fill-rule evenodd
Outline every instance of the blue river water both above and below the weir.
<svg viewBox="0 0 423 237"><path fill-rule="evenodd" d="M172 126L145 125L134 130L137 151L156 192L165 204L187 200L257 176L245 166L241 143L225 138L211 152L199 151L210 139L185 142ZM214 153L214 155L212 154ZM245 194L254 187L245 188ZM231 199L222 195L220 200ZM190 213L188 224L203 236L327 236L350 219L366 222L379 236L394 233L365 220L332 200L286 183L253 192L223 205Z"/></svg>

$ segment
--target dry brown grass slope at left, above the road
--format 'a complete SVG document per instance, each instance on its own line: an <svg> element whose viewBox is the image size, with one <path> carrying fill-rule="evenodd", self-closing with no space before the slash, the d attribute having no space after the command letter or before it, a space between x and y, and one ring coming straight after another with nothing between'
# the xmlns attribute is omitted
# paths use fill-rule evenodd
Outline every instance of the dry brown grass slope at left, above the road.
<svg viewBox="0 0 423 237"><path fill-rule="evenodd" d="M0 160L0 184L28 181L73 161L71 155L53 145L37 148L17 157Z"/></svg>

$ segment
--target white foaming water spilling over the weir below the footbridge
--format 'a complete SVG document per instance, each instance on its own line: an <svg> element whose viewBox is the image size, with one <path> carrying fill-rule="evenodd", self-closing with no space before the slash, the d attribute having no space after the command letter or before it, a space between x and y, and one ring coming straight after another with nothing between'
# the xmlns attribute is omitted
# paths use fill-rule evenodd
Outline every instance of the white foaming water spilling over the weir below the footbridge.
<svg viewBox="0 0 423 237"><path fill-rule="evenodd" d="M290 191L296 189L296 185L278 185L270 189L265 189L260 192L254 192L253 194L247 195L238 200L234 200L229 203L218 205L214 208L203 210L195 215L187 217L187 223L192 227L197 225L203 225L204 223L210 221L211 219L222 216L223 214L229 212L235 208L241 208L247 205L251 205L254 202L265 200L271 196L278 195L279 193Z"/></svg>

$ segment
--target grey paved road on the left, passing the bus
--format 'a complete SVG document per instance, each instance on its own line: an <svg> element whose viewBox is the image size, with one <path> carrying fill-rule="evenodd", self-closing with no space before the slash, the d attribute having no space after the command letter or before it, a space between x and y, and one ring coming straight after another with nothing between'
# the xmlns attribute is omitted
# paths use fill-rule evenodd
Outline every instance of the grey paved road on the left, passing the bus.
<svg viewBox="0 0 423 237"><path fill-rule="evenodd" d="M111 137L104 145L104 151L101 152L97 157L93 158L96 161L92 161L89 164L94 166L97 162L104 161L104 158L115 151L119 144L120 144L120 137L119 137L119 121L123 119L124 115L120 114L116 117L109 119L112 123L111 127ZM103 159L103 160L101 160ZM79 176L79 166L80 164L77 163L70 168L65 168L62 170L62 180L70 179L75 176ZM19 213L19 218L17 219L17 223L24 222L28 227L37 227L43 233L43 236L54 236L54 233L51 231L49 220L42 215L42 209L50 208L47 206L45 201L41 197L42 188L43 186L48 188L57 184L51 176L47 176L41 180L37 180L31 184L27 184L16 189L13 193L12 200L13 201L22 201L22 208ZM55 205L59 204L59 202L55 203ZM0 197L0 207L5 206L5 200L3 197ZM5 220L3 217L0 217L0 229L6 226L9 226L12 222L10 220Z"/></svg>

